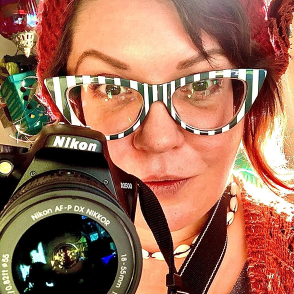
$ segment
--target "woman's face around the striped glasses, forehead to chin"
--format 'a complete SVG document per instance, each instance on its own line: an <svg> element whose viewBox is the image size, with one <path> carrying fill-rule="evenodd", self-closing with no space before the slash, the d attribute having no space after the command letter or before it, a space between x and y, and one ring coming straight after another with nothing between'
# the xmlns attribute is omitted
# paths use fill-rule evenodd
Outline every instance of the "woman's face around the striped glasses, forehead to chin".
<svg viewBox="0 0 294 294"><path fill-rule="evenodd" d="M233 68L203 33L213 67L184 32L171 1L86 1L78 12L67 74L108 75L160 84L212 69ZM94 54L83 54L96 50ZM79 58L83 54L82 60ZM85 119L93 112L85 113ZM154 102L130 135L108 141L113 162L153 189L170 229L197 221L220 197L242 137L243 120L217 135L190 133ZM144 226L138 217L138 225Z"/></svg>

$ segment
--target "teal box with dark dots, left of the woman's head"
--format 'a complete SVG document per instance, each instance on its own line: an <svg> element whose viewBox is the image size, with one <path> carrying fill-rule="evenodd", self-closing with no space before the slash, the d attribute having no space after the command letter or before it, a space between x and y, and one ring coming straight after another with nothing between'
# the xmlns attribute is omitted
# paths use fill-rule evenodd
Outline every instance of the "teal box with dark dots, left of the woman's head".
<svg viewBox="0 0 294 294"><path fill-rule="evenodd" d="M45 108L37 100L34 71L9 75L0 88L13 124L19 132L37 134L48 122Z"/></svg>

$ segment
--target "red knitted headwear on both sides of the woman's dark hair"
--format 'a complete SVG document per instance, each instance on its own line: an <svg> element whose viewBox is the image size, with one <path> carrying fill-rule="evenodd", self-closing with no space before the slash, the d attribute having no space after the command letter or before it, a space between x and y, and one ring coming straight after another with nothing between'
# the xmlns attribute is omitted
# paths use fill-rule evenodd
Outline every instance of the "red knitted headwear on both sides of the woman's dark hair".
<svg viewBox="0 0 294 294"><path fill-rule="evenodd" d="M62 27L71 11L74 0L43 0L38 26L37 76L42 80L44 71L51 65L52 57L62 35ZM289 62L290 24L294 0L240 0L246 7L251 24L251 37L262 46L268 56L279 60L281 76ZM267 0L268 2L269 0Z"/></svg>

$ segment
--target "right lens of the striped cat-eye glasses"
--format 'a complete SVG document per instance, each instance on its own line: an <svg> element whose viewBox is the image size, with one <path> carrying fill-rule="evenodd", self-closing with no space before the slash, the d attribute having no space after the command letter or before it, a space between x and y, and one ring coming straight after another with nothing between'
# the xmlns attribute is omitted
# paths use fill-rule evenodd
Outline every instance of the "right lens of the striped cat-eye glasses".
<svg viewBox="0 0 294 294"><path fill-rule="evenodd" d="M176 89L172 104L186 124L203 130L216 129L238 113L245 92L246 84L240 79L205 79Z"/></svg>

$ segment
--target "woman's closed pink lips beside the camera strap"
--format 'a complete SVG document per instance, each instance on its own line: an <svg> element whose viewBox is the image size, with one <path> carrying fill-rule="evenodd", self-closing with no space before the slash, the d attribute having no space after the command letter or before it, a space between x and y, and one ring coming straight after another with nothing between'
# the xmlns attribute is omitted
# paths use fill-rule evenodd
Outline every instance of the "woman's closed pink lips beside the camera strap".
<svg viewBox="0 0 294 294"><path fill-rule="evenodd" d="M175 180L144 181L144 183L156 196L168 196L179 191L190 179L191 177Z"/></svg>

